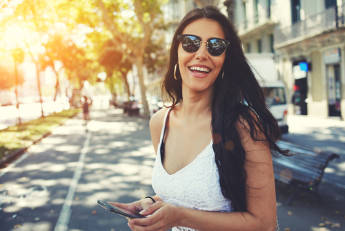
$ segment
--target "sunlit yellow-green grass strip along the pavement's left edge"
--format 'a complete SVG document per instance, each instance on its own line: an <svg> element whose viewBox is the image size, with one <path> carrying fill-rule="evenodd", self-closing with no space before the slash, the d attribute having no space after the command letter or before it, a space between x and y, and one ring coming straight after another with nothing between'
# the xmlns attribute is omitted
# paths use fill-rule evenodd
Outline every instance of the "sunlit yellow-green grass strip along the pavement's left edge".
<svg viewBox="0 0 345 231"><path fill-rule="evenodd" d="M0 130L0 159L17 149L28 147L32 142L39 140L46 133L52 131L81 109L70 109L59 113L52 113L46 117L38 118Z"/></svg>

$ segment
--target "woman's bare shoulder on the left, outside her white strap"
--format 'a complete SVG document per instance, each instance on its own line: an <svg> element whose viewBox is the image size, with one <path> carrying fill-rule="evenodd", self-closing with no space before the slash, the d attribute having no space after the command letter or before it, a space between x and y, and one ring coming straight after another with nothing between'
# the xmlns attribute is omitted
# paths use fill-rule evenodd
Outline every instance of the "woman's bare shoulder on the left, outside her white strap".
<svg viewBox="0 0 345 231"><path fill-rule="evenodd" d="M157 147L159 144L159 138L161 136L161 129L164 124L164 116L166 115L167 108L160 109L150 118L150 132L152 145L155 148L157 154Z"/></svg>

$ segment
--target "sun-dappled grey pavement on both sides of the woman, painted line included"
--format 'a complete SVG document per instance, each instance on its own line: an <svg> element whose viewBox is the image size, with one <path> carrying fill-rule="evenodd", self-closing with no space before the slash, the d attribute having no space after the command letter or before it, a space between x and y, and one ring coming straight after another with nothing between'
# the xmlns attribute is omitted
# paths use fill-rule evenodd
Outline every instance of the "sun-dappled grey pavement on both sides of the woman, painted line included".
<svg viewBox="0 0 345 231"><path fill-rule="evenodd" d="M129 203L154 194L150 178L155 153L148 120L128 117L106 104L93 105L90 116L87 127L81 114L68 120L1 170L1 231L130 230L126 219L104 210L97 199ZM326 169L319 188L322 203L304 194L284 205L291 190L277 183L280 230L344 230L344 122L314 124L301 118L289 117L290 133L283 140L326 148L341 158ZM325 219L342 227L331 228Z"/></svg>

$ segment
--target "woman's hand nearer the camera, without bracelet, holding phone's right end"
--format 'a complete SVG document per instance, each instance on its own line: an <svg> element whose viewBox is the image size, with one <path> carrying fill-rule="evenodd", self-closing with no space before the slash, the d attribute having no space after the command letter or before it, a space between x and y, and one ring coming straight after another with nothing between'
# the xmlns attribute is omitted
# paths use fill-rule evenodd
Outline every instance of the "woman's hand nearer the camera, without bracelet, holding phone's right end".
<svg viewBox="0 0 345 231"><path fill-rule="evenodd" d="M177 226L182 218L180 207L157 201L140 212L144 219L130 219L128 226L133 231L166 231Z"/></svg>

